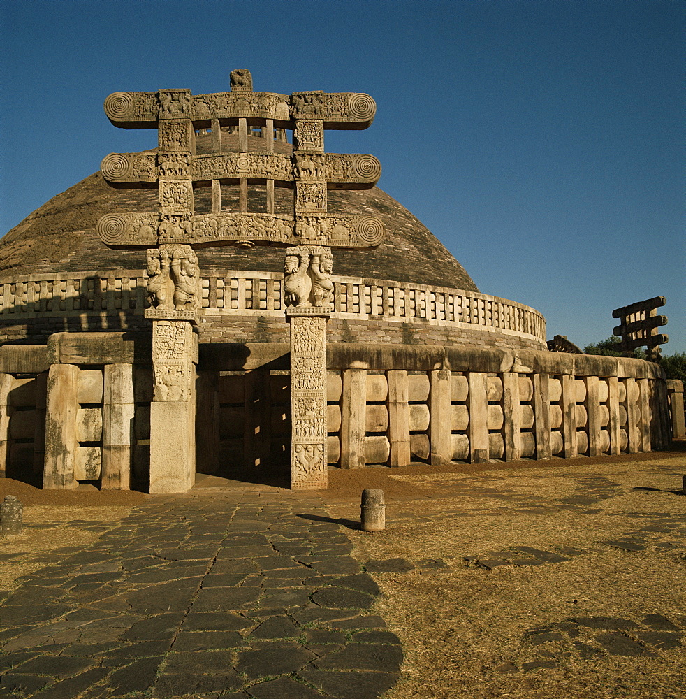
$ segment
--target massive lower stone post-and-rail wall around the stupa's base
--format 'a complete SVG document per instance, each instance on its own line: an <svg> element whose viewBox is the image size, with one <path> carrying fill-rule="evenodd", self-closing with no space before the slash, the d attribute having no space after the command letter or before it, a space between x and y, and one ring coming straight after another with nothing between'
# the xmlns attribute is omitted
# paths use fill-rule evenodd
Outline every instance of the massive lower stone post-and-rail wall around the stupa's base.
<svg viewBox="0 0 686 699"><path fill-rule="evenodd" d="M150 356L130 333L1 347L3 473L145 484ZM645 452L683 433L683 384L638 359L330 343L327 366L328 461L342 468ZM198 471L289 468L288 368L280 343L200 347Z"/></svg>

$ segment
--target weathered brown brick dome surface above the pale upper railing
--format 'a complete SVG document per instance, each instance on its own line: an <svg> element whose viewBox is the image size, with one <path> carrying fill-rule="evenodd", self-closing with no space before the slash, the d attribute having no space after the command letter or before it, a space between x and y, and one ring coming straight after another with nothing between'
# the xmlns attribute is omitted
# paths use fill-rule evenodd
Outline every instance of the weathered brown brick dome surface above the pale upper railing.
<svg viewBox="0 0 686 699"><path fill-rule="evenodd" d="M222 151L238 152L238 136L222 134ZM258 133L258 132L256 132ZM196 152L209 152L211 136L196 137ZM291 152L285 140L275 142L276 152ZM251 151L265 150L264 140L251 138ZM236 210L238 185L222 185L222 208ZM210 189L196 189L196 212L209 212ZM264 185L249 185L250 211L263 211ZM27 216L0 240L0 273L35 274L135 269L145 266L143 250L110 250L98 238L96 224L106 213L154 211L156 189L113 189L101 173L81 180L57 194ZM291 189L275 189L277 212L293 209ZM384 221L386 238L373 250L336 250L335 273L363 278L416 282L478 291L460 263L406 208L386 192L330 190L332 213L373 213ZM258 246L242 250L233 245L198 250L200 268L281 272L284 250Z"/></svg>

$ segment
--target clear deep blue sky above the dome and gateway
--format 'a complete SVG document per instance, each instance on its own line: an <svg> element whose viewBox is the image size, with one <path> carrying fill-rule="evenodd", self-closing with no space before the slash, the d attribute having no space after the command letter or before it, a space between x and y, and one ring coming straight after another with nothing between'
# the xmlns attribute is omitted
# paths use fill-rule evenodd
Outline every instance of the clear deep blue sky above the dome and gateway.
<svg viewBox="0 0 686 699"><path fill-rule="evenodd" d="M606 338L613 308L666 296L686 351L686 3L675 0L2 0L0 233L156 145L115 129L118 90L368 92L379 186L486 294L548 337ZM419 273L421 277L421 273Z"/></svg>

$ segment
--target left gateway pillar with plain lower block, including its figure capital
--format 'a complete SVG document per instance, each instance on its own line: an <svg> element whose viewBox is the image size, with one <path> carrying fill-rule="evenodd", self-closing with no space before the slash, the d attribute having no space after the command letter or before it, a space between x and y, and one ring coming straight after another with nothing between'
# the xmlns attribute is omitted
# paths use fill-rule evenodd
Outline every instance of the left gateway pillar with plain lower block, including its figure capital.
<svg viewBox="0 0 686 699"><path fill-rule="evenodd" d="M158 273L148 282L156 308L145 311L152 320L154 370L150 492L184 493L196 474L198 261L188 245L161 245L148 250L151 271Z"/></svg>

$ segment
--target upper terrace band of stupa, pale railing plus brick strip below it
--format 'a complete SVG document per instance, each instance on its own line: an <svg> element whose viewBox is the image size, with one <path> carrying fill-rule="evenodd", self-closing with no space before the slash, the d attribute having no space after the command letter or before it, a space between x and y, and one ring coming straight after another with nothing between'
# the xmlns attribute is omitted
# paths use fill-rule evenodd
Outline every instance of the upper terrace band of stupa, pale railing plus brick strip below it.
<svg viewBox="0 0 686 699"><path fill-rule="evenodd" d="M333 342L546 347L546 322L529 306L476 292L335 277ZM46 342L57 332L143 331L141 271L0 279L0 342ZM282 275L210 273L202 279L201 343L287 341Z"/></svg>

